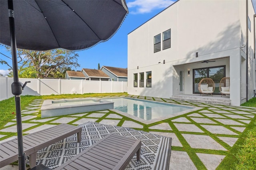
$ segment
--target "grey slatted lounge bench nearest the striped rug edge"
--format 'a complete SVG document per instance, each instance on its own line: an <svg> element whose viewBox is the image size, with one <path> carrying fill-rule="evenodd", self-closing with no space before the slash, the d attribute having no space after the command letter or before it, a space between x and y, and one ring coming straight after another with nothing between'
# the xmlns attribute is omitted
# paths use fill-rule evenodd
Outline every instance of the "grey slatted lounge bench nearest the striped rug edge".
<svg viewBox="0 0 256 170"><path fill-rule="evenodd" d="M55 170L124 170L137 154L141 140L110 133Z"/></svg>

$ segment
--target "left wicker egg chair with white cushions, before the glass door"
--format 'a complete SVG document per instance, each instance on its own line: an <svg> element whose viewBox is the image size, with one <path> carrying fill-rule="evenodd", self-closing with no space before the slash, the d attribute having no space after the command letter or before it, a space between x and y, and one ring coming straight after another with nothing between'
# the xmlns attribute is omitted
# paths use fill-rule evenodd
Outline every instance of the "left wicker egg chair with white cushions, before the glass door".
<svg viewBox="0 0 256 170"><path fill-rule="evenodd" d="M215 90L215 83L211 78L204 78L202 79L198 84L198 91L200 92L200 95L211 94Z"/></svg>

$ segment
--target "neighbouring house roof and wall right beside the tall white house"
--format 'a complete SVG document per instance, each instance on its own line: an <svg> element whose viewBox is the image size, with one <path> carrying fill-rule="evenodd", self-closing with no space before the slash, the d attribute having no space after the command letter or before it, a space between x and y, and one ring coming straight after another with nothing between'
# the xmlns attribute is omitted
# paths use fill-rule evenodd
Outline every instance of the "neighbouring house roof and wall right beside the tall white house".
<svg viewBox="0 0 256 170"><path fill-rule="evenodd" d="M127 69L102 66L100 70L110 77L110 81L127 81Z"/></svg>

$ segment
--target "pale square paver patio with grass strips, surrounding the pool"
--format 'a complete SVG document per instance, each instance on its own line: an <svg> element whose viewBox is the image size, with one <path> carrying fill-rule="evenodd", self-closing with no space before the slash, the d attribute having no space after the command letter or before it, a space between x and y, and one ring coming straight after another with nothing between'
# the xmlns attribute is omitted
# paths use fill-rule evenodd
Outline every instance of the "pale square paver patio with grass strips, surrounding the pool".
<svg viewBox="0 0 256 170"><path fill-rule="evenodd" d="M126 95L126 97L202 108L199 111L192 111L146 125L108 110L41 119L37 116L43 100L37 99L22 111L23 133L32 133L59 123L80 125L88 121L131 127L173 138L170 169L192 170L204 167L213 170L229 153L256 115L256 108L174 101L134 95ZM0 129L0 142L16 137L16 131L16 119L12 119ZM209 150L212 150L214 154L209 154Z"/></svg>

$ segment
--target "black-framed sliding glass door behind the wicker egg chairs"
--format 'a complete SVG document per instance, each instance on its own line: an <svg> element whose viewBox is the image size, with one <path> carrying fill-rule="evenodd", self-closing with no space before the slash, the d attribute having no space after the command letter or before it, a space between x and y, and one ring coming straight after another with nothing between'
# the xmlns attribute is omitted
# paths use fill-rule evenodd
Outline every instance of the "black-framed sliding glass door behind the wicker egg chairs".
<svg viewBox="0 0 256 170"><path fill-rule="evenodd" d="M220 94L219 84L223 77L226 77L226 66L204 67L193 69L193 93L199 94L198 83L204 78L211 78L215 83L214 94Z"/></svg>

